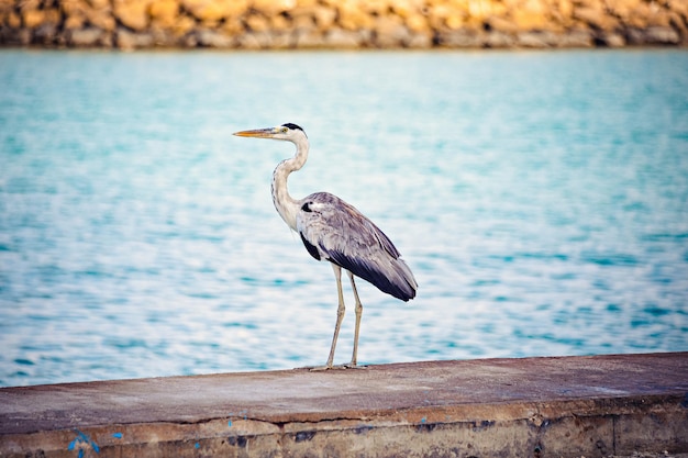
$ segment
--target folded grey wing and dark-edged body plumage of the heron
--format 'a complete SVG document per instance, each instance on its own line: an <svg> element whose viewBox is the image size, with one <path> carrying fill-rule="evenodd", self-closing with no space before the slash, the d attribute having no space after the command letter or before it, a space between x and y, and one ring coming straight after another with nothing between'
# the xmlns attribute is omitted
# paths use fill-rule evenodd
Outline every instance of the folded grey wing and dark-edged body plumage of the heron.
<svg viewBox="0 0 688 458"><path fill-rule="evenodd" d="M402 301L418 283L391 241L370 220L336 196L313 193L300 201L297 231L315 259L326 259Z"/></svg>

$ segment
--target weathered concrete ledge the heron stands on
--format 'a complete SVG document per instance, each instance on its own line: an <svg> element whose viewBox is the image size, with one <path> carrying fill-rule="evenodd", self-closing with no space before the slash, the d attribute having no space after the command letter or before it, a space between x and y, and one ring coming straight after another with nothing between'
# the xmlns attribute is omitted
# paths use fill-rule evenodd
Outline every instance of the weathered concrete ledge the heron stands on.
<svg viewBox="0 0 688 458"><path fill-rule="evenodd" d="M0 389L2 457L688 451L688 353Z"/></svg>

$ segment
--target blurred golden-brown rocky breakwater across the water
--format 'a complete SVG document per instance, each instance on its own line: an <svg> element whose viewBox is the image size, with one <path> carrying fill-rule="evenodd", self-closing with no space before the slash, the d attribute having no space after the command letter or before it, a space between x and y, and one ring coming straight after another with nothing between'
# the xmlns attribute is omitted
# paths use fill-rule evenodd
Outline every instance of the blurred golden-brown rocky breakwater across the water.
<svg viewBox="0 0 688 458"><path fill-rule="evenodd" d="M688 0L0 0L0 44L464 48L688 45Z"/></svg>

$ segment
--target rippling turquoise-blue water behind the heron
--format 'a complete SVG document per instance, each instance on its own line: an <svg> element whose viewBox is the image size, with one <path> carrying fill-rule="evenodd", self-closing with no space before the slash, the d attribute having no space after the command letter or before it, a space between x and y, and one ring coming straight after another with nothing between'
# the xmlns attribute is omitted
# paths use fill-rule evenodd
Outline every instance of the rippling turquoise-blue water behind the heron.
<svg viewBox="0 0 688 458"><path fill-rule="evenodd" d="M395 242L362 364L688 350L688 53L0 51L0 386L324 364L290 180ZM335 362L348 361L353 302Z"/></svg>

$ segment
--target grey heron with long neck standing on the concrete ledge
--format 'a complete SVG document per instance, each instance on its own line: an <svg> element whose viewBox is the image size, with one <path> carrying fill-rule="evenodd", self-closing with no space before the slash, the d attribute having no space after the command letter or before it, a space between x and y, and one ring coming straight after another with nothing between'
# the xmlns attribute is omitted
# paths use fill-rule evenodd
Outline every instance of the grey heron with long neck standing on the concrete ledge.
<svg viewBox="0 0 688 458"><path fill-rule="evenodd" d="M411 269L401 259L399 250L387 235L353 205L328 192L315 192L303 199L293 199L289 196L287 190L289 174L303 167L308 159L308 136L301 127L287 123L276 127L241 131L234 135L287 141L296 145L293 157L282 160L275 168L271 187L273 202L285 223L300 235L308 253L317 260L331 262L339 295L336 325L330 356L325 366L317 369L333 368L334 349L345 312L342 269L347 272L354 292L356 327L352 360L348 365L341 367L355 367L363 305L358 298L354 276L407 302L415 297L418 289Z"/></svg>

